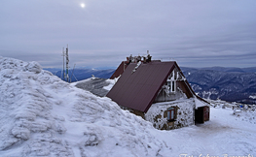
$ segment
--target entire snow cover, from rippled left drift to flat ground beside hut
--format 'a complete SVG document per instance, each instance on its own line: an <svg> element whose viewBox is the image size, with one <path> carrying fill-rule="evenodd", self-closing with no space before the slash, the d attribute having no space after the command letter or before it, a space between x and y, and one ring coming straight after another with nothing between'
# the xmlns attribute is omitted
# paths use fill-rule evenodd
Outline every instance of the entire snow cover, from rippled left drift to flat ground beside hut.
<svg viewBox="0 0 256 157"><path fill-rule="evenodd" d="M109 88L109 87L108 87ZM171 131L42 70L0 56L0 156L256 156L255 111L211 108Z"/></svg>

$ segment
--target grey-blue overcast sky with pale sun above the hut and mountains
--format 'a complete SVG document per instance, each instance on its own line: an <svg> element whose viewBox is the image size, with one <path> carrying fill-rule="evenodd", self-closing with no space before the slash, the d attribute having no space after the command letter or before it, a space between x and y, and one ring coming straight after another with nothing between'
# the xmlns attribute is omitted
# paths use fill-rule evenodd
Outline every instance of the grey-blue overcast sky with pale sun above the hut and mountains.
<svg viewBox="0 0 256 157"><path fill-rule="evenodd" d="M84 3L83 8L81 4ZM255 67L256 0L1 0L0 56L117 67L129 54L182 67Z"/></svg>

